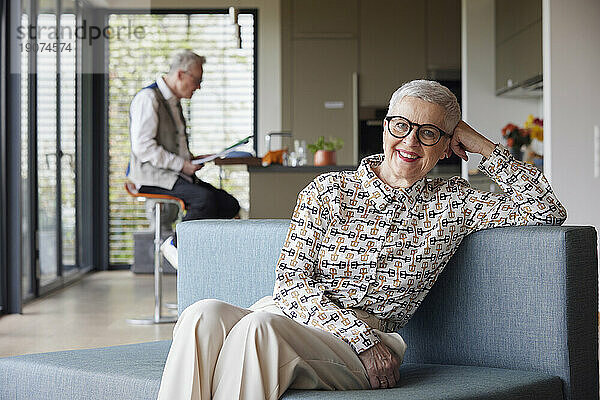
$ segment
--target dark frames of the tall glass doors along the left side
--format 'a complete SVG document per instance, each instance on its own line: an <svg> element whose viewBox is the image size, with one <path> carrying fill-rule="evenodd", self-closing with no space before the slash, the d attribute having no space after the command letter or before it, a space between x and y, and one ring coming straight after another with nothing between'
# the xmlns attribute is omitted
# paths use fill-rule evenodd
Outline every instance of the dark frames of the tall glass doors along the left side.
<svg viewBox="0 0 600 400"><path fill-rule="evenodd" d="M75 258L76 265L78 266L78 270L68 274L65 276L63 272L62 266L62 245L59 237L61 236L61 232L59 228L61 225L57 226L57 259L60 260L58 265L58 274L57 279L44 286L40 286L39 273L38 273L38 241L37 241L37 230L38 230L38 219L37 219L37 196L38 196L38 187L37 187L37 53L29 52L29 56L27 57L28 63L28 73L27 77L22 77L21 72L21 49L20 49L20 39L17 38L17 35L14 34L15 27L20 26L22 22L22 11L23 5L28 5L29 12L29 21L28 24L35 24L36 22L32 22L31 17L38 15L38 3L39 0L15 0L15 1L1 1L1 11L2 11L2 56L6 62L2 65L2 76L1 80L1 92L2 92L2 104L1 104L1 113L2 122L0 122L2 135L0 139L0 166L2 171L0 172L0 177L2 180L2 188L0 192L0 295L2 296L1 302L4 305L3 310L0 310L0 314L3 313L20 313L22 311L22 307L24 304L29 302L30 300L34 300L46 294L52 293L58 289L61 289L74 281L81 279L86 273L94 269L93 263L84 266L81 263L81 257L84 253L82 251L80 238L84 237L84 235L95 232L97 230L96 226L89 225L85 227L85 232L82 234L80 230L82 225L80 224L80 215L79 208L76 210L76 230L77 237L76 241L79 244L78 248L75 249ZM54 4L56 5L56 14L57 14L57 25L59 24L59 15L61 14L62 0L54 0ZM77 3L75 3L77 4ZM77 7L77 6L76 6ZM82 12L81 8L76 8L75 14L79 16ZM12 32L12 34L11 34ZM6 40L5 40L6 39ZM56 38L58 42L59 37ZM79 46L79 44L77 44ZM78 55L77 59L80 56ZM57 71L60 68L60 54L56 54L57 60ZM79 61L76 61L77 63ZM10 66L10 71L7 69ZM14 72L14 73L13 73ZM57 72L58 74L58 72ZM78 88L80 85L80 80L82 76L82 69L79 64L76 65L75 70L75 79L76 79L76 87ZM22 91L21 91L21 79L27 79L28 86L28 98L27 105L28 108L28 122L27 122L27 153L23 153L21 149L21 144L23 138L21 136L21 110L22 110ZM57 81L57 85L59 85L59 81ZM76 108L79 107L81 103L81 97L79 95L81 93L76 89ZM57 105L60 104L60 89L57 88L56 92ZM8 101L10 99L10 101ZM80 109L80 108L77 108ZM75 127L75 141L76 141L76 163L79 168L79 162L81 161L81 157L79 155L79 142L81 140L81 127L80 127L80 119L77 118L78 111L76 110L76 127ZM60 129L60 111L57 112L57 130ZM58 134L58 132L57 132ZM60 136L57 135L56 145L59 146ZM24 144L24 143L23 143ZM58 149L59 147L57 147ZM27 168L28 168L28 179L26 182L22 181L21 176L21 162L24 161L23 157L27 157ZM58 170L58 166L57 166ZM76 191L80 193L80 181L81 177L78 175L79 169L75 171L75 184L78 189ZM57 177L57 184L60 184L60 178ZM21 189L23 187L28 188L28 193L23 196L23 192ZM56 207L58 207L58 215L60 215L60 203L61 199L57 196ZM77 207L79 207L78 199L76 197ZM22 237L22 232L24 229L22 228L22 216L25 212L25 207L28 209L28 215L26 216L26 225L28 226L28 231L30 234L26 237ZM85 250L91 250L90 246L88 246ZM24 254L27 254L29 257L29 262L27 265L23 263L26 261L24 258ZM30 279L30 291L25 293L23 291L23 270L27 268L30 271L29 279Z"/></svg>

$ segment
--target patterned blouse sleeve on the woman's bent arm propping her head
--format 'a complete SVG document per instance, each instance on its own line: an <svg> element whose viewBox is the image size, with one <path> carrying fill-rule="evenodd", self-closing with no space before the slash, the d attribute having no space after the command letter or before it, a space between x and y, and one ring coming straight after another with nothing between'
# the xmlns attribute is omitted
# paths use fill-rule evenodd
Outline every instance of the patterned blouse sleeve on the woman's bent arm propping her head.
<svg viewBox="0 0 600 400"><path fill-rule="evenodd" d="M462 180L464 224L469 232L500 226L561 225L567 218L544 175L535 166L515 160L503 146L497 145L479 169L504 193L473 189Z"/></svg>

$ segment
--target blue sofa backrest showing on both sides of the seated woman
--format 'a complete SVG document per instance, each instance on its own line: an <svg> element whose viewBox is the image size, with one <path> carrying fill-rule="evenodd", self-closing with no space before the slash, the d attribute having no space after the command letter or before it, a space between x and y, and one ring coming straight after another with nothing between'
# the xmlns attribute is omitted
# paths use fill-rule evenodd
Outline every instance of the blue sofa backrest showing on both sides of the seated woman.
<svg viewBox="0 0 600 400"><path fill-rule="evenodd" d="M177 227L178 301L248 307L272 294L288 220L204 220ZM463 241L411 321L406 362L546 372L566 398L598 394L596 232L509 227Z"/></svg>

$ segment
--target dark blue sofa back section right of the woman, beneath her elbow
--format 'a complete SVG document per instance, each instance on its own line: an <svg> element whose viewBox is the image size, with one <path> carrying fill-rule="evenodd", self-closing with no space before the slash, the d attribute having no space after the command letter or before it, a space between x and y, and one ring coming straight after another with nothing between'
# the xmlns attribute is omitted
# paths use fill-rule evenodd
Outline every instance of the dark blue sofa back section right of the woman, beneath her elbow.
<svg viewBox="0 0 600 400"><path fill-rule="evenodd" d="M596 253L592 227L468 236L400 331L405 360L541 371L597 398Z"/></svg>

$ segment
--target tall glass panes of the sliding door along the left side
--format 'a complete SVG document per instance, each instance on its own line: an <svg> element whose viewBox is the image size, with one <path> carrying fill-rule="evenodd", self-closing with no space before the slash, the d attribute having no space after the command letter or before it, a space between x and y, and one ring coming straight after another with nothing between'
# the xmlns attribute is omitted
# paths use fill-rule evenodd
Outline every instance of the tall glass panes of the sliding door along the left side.
<svg viewBox="0 0 600 400"><path fill-rule="evenodd" d="M79 271L76 0L24 0L21 178L24 298Z"/></svg>

